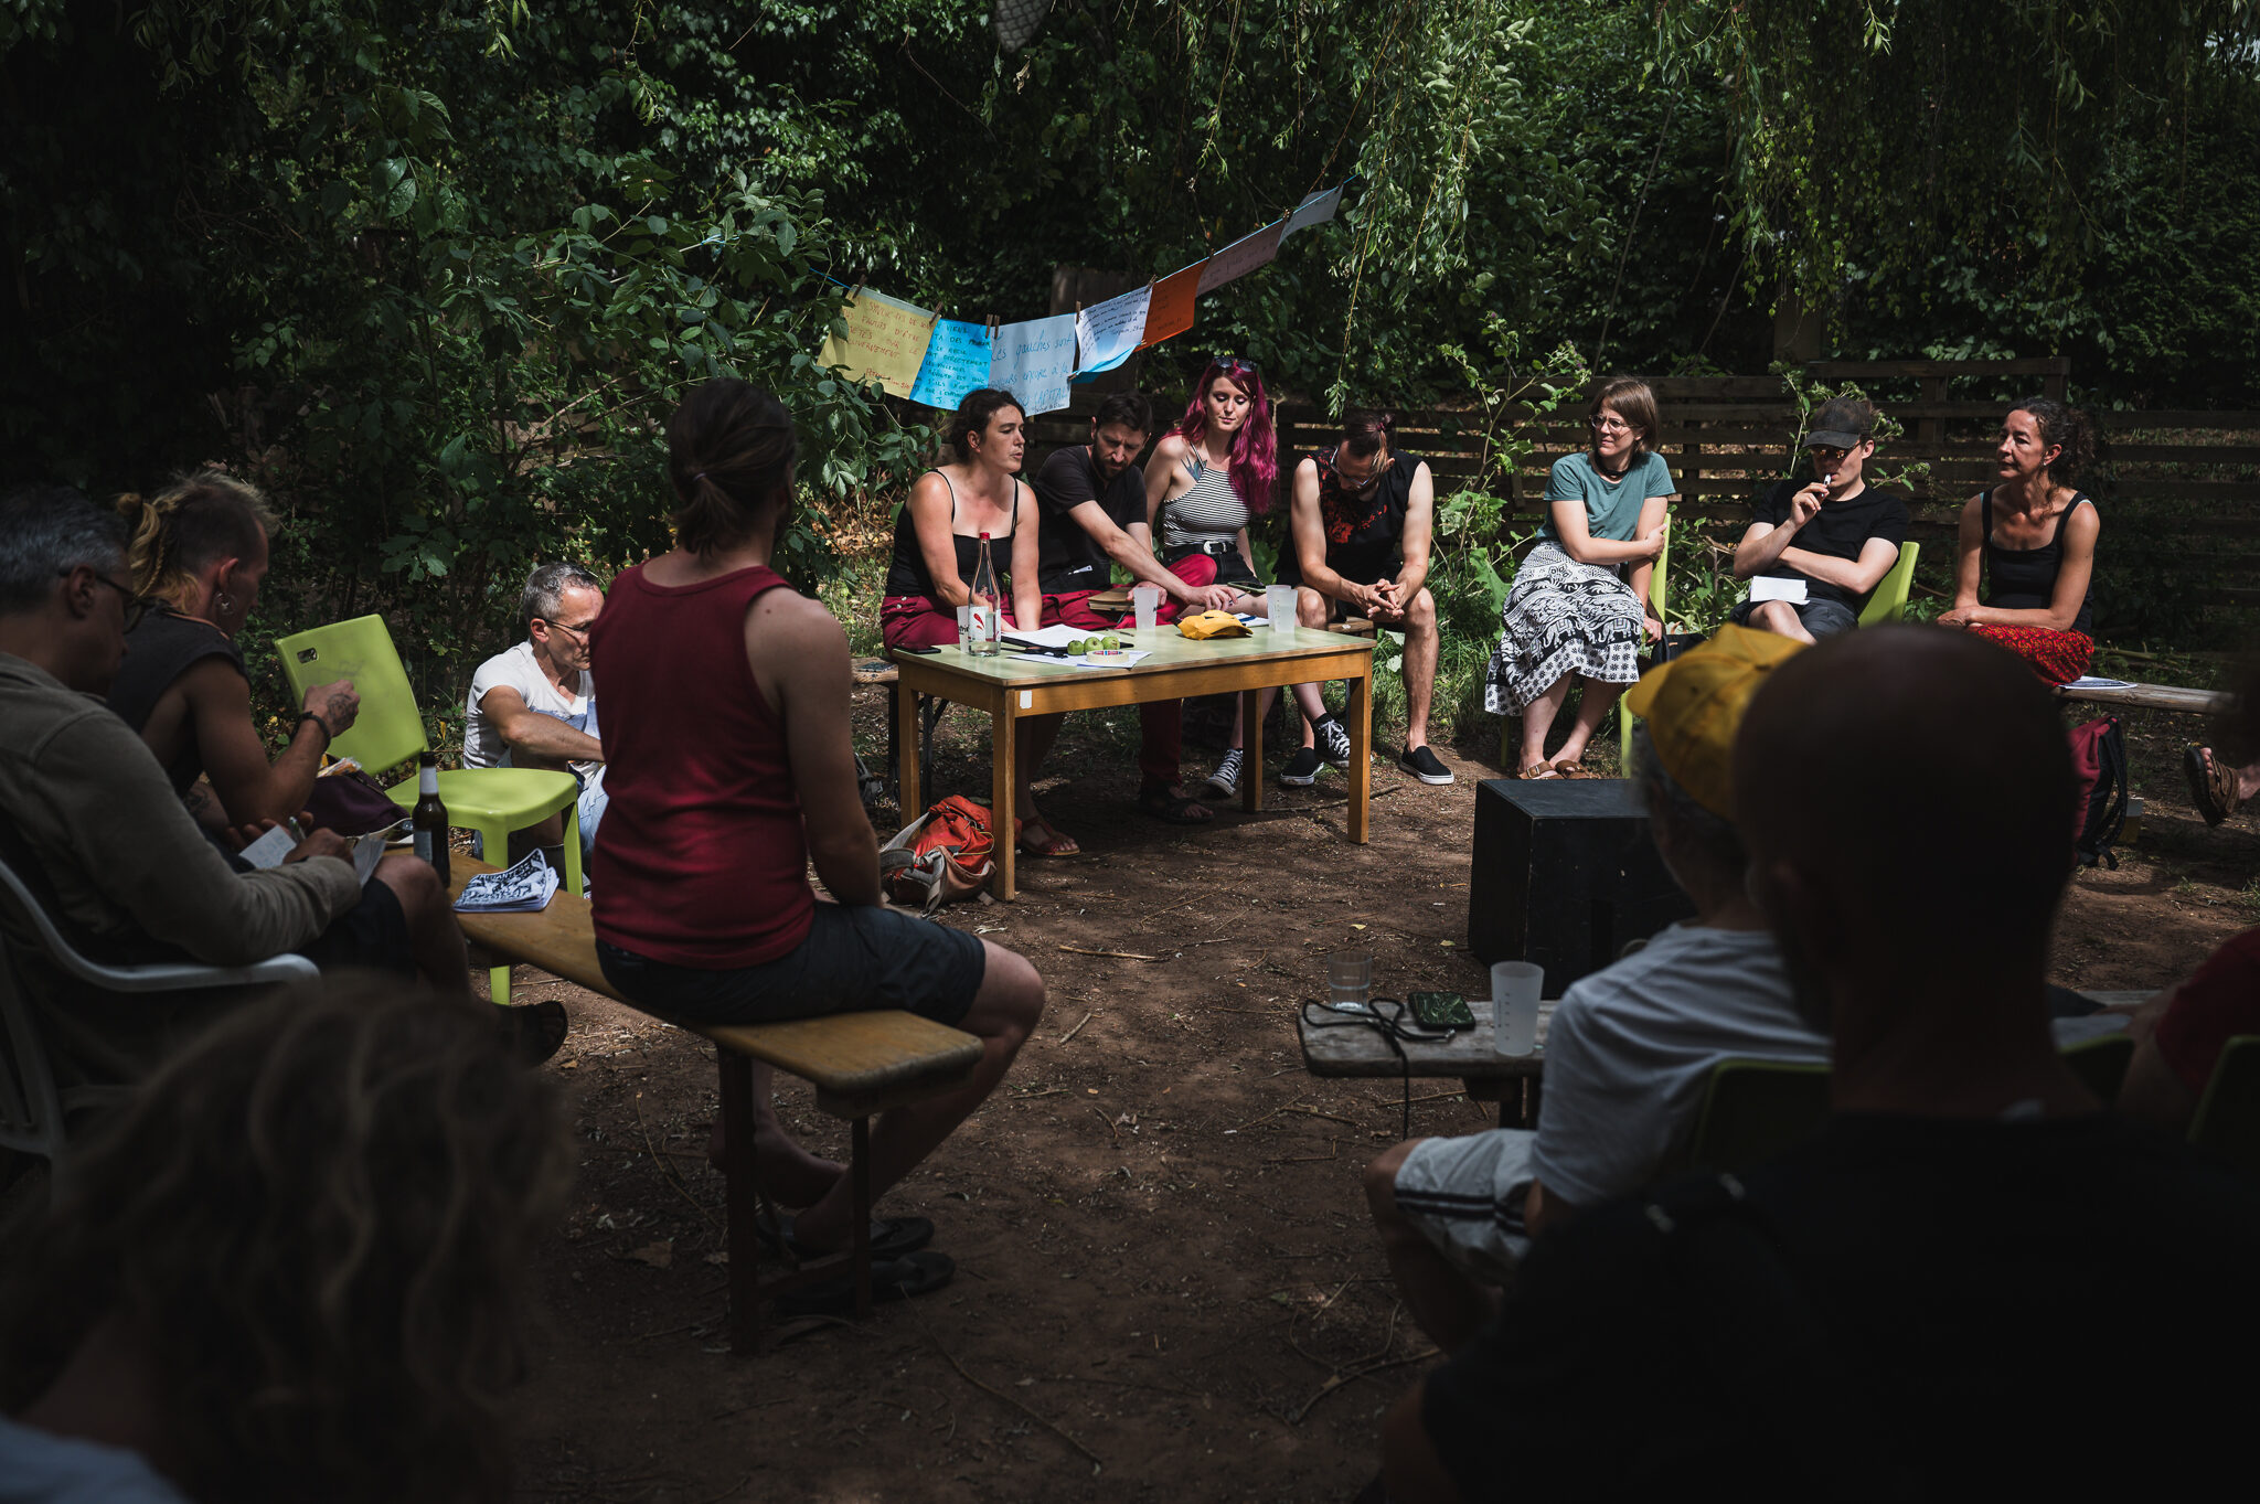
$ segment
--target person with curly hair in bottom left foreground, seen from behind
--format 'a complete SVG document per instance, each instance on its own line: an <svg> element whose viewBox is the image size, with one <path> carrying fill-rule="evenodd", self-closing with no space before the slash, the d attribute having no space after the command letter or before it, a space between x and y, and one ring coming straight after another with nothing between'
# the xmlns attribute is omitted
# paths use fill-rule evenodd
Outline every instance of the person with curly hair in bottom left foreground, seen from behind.
<svg viewBox="0 0 2260 1504"><path fill-rule="evenodd" d="M362 973L199 1037L72 1156L0 1298L11 1499L506 1499L551 1082Z"/></svg>

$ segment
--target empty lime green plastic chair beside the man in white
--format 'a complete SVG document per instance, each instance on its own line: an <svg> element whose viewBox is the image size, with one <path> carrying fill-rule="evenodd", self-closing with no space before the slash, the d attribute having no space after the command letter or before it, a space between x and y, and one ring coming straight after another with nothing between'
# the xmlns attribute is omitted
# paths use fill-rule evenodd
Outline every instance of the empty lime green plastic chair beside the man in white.
<svg viewBox="0 0 2260 1504"><path fill-rule="evenodd" d="M292 696L305 698L307 689L332 680L353 680L353 689L362 696L362 711L353 718L353 729L330 743L332 757L350 757L362 763L368 777L382 779L432 747L425 738L423 714L416 709L416 691L409 687L407 668L400 666L400 653L393 648L384 617L355 617L278 637L276 653L282 657L282 677L289 680ZM414 770L384 793L400 808L414 808ZM570 772L450 768L438 775L438 797L447 806L447 820L479 831L488 856L502 856L511 849L511 831L522 831L565 811L565 892L581 892L581 811L579 788ZM488 969L486 987L495 1003L508 1003L511 969Z"/></svg>

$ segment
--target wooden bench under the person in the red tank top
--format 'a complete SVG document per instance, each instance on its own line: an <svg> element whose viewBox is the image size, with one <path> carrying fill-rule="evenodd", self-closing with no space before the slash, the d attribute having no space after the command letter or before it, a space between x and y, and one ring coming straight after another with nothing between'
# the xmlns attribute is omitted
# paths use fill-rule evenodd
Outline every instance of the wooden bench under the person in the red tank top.
<svg viewBox="0 0 2260 1504"><path fill-rule="evenodd" d="M457 854L452 892L495 867ZM597 962L588 899L558 892L536 915L457 915L463 935L506 960L626 1003ZM631 1005L633 1007L633 1005ZM870 1314L870 1116L954 1091L981 1064L981 1041L963 1030L899 1009L793 1018L789 1023L696 1030L714 1041L721 1068L725 1226L730 1240L730 1350L753 1353L762 1337L762 1301L854 1271L857 1317ZM816 1086L816 1109L850 1125L850 1192L854 1247L791 1274L762 1280L762 1186L753 1156L753 1061Z"/></svg>

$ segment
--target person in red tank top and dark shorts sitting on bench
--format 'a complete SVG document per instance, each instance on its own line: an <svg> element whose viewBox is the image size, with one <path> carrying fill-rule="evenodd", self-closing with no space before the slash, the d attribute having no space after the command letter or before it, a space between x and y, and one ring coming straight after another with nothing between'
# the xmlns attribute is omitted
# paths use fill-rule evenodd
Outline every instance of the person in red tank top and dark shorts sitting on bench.
<svg viewBox="0 0 2260 1504"><path fill-rule="evenodd" d="M972 1079L881 1113L872 1190L899 1181L1003 1077L1042 1009L1026 960L881 903L879 842L847 736L847 637L771 567L793 497L793 420L746 382L707 382L667 422L676 549L621 571L590 635L606 788L590 887L597 958L637 1007L685 1025L902 1007L983 1041ZM834 901L818 901L807 869ZM764 1188L807 1210L802 1253L852 1238L841 1165L777 1125L755 1066ZM716 1134L719 1134L716 1125ZM716 1145L719 1147L719 1145ZM875 1289L922 1294L949 1260L933 1224L875 1228Z"/></svg>

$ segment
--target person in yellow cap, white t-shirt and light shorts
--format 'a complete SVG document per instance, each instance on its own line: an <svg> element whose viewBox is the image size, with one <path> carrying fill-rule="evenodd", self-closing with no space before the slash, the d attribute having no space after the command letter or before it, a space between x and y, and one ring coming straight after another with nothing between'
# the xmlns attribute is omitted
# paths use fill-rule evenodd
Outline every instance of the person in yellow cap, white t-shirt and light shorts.
<svg viewBox="0 0 2260 1504"><path fill-rule="evenodd" d="M1695 919L1562 996L1539 1129L1415 1138L1365 1172L1390 1271L1446 1353L1476 1335L1541 1226L1654 1179L1718 1061L1828 1059L1742 887L1729 777L1742 709L1799 646L1720 628L1632 689L1650 836Z"/></svg>

